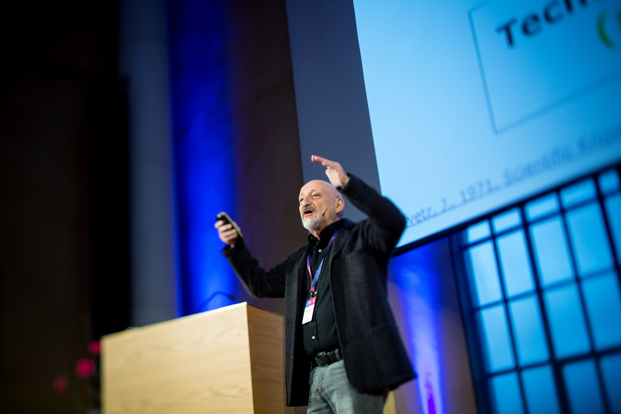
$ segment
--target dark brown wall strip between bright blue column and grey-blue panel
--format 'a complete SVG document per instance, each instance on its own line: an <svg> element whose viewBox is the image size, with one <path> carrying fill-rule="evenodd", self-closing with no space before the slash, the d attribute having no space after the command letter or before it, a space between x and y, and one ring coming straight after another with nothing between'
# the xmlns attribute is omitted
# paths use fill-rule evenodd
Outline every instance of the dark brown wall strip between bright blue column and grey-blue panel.
<svg viewBox="0 0 621 414"><path fill-rule="evenodd" d="M230 6L229 91L235 142L237 217L261 266L307 243L297 195L304 185L284 0ZM284 300L239 300L284 315Z"/></svg>

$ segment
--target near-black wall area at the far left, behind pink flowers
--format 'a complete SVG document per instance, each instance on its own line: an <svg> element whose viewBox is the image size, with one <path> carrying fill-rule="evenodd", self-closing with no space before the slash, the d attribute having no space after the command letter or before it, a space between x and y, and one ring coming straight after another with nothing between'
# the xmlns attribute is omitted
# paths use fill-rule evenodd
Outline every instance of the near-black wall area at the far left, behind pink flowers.
<svg viewBox="0 0 621 414"><path fill-rule="evenodd" d="M0 412L84 412L75 362L128 316L117 7L12 2L1 19Z"/></svg>

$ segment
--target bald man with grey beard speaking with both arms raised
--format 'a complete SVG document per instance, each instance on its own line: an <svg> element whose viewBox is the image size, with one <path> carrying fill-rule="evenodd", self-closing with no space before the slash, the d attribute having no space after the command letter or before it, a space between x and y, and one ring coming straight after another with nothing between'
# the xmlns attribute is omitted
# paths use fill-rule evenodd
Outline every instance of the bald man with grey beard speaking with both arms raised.
<svg viewBox="0 0 621 414"><path fill-rule="evenodd" d="M312 156L325 181L300 190L309 243L262 269L232 225L224 256L256 297L284 297L287 405L308 413L379 414L388 391L415 377L386 297L386 265L406 219L341 164ZM368 218L343 218L343 195Z"/></svg>

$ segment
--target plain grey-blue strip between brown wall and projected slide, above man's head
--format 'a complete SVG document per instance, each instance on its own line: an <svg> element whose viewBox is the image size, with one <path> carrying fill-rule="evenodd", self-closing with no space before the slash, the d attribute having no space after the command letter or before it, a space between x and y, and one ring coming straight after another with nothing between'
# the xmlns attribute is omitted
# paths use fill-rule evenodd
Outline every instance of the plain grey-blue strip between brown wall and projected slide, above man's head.
<svg viewBox="0 0 621 414"><path fill-rule="evenodd" d="M287 0L304 181L326 179L311 161L338 161L380 191L352 0ZM345 217L366 215L345 202Z"/></svg>

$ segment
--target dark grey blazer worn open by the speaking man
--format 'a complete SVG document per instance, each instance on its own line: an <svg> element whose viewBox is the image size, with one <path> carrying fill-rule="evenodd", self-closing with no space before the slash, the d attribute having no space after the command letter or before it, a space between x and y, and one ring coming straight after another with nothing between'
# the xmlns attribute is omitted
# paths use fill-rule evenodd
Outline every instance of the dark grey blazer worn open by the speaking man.
<svg viewBox="0 0 621 414"><path fill-rule="evenodd" d="M406 227L399 209L365 182L350 176L343 195L368 215L346 220L330 249L330 284L338 341L351 384L361 391L391 389L415 378L386 294L386 265ZM238 242L223 253L244 287L256 297L285 298L287 405L307 405L311 366L302 343L309 245L266 271Z"/></svg>

